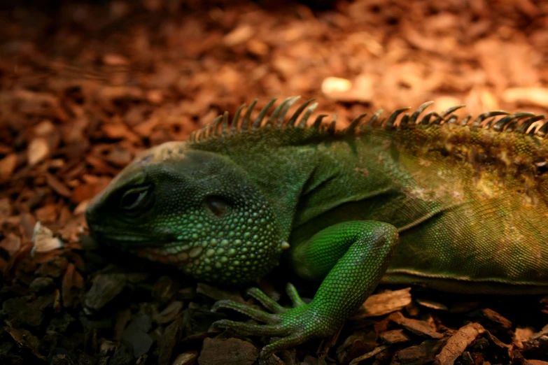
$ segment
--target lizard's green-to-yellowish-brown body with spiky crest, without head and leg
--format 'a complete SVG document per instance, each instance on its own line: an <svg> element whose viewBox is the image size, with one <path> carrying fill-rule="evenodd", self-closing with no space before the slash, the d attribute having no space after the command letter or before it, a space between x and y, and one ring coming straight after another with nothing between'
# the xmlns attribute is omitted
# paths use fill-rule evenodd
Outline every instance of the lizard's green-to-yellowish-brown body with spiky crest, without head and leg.
<svg viewBox="0 0 548 365"><path fill-rule="evenodd" d="M458 292L547 292L548 123L492 111L458 120L451 108L360 116L343 130L287 122L287 99L265 122L226 115L188 147L230 155L278 207L291 245L346 220L389 222L400 247L384 282ZM304 112L304 117L300 114Z"/></svg>

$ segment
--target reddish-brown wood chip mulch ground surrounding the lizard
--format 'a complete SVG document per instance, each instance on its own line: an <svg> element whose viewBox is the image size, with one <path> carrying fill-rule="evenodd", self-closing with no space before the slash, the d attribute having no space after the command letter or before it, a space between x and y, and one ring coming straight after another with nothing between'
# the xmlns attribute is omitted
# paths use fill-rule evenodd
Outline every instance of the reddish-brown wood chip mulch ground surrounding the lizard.
<svg viewBox="0 0 548 365"><path fill-rule="evenodd" d="M548 1L16 4L0 8L0 364L257 361L267 338L210 328L245 320L216 299L246 296L83 236L87 202L136 152L223 110L295 94L342 124L428 100L548 108ZM261 287L287 300L283 280ZM548 297L385 289L271 363L548 364Z"/></svg>

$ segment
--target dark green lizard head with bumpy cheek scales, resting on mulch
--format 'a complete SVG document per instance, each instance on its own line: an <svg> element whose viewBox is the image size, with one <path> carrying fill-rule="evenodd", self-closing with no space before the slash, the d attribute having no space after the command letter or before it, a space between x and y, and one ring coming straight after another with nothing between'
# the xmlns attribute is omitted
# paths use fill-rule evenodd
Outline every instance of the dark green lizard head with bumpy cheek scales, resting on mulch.
<svg viewBox="0 0 548 365"><path fill-rule="evenodd" d="M284 245L247 173L184 143L142 152L92 199L85 217L97 243L217 283L260 278L278 264Z"/></svg>

